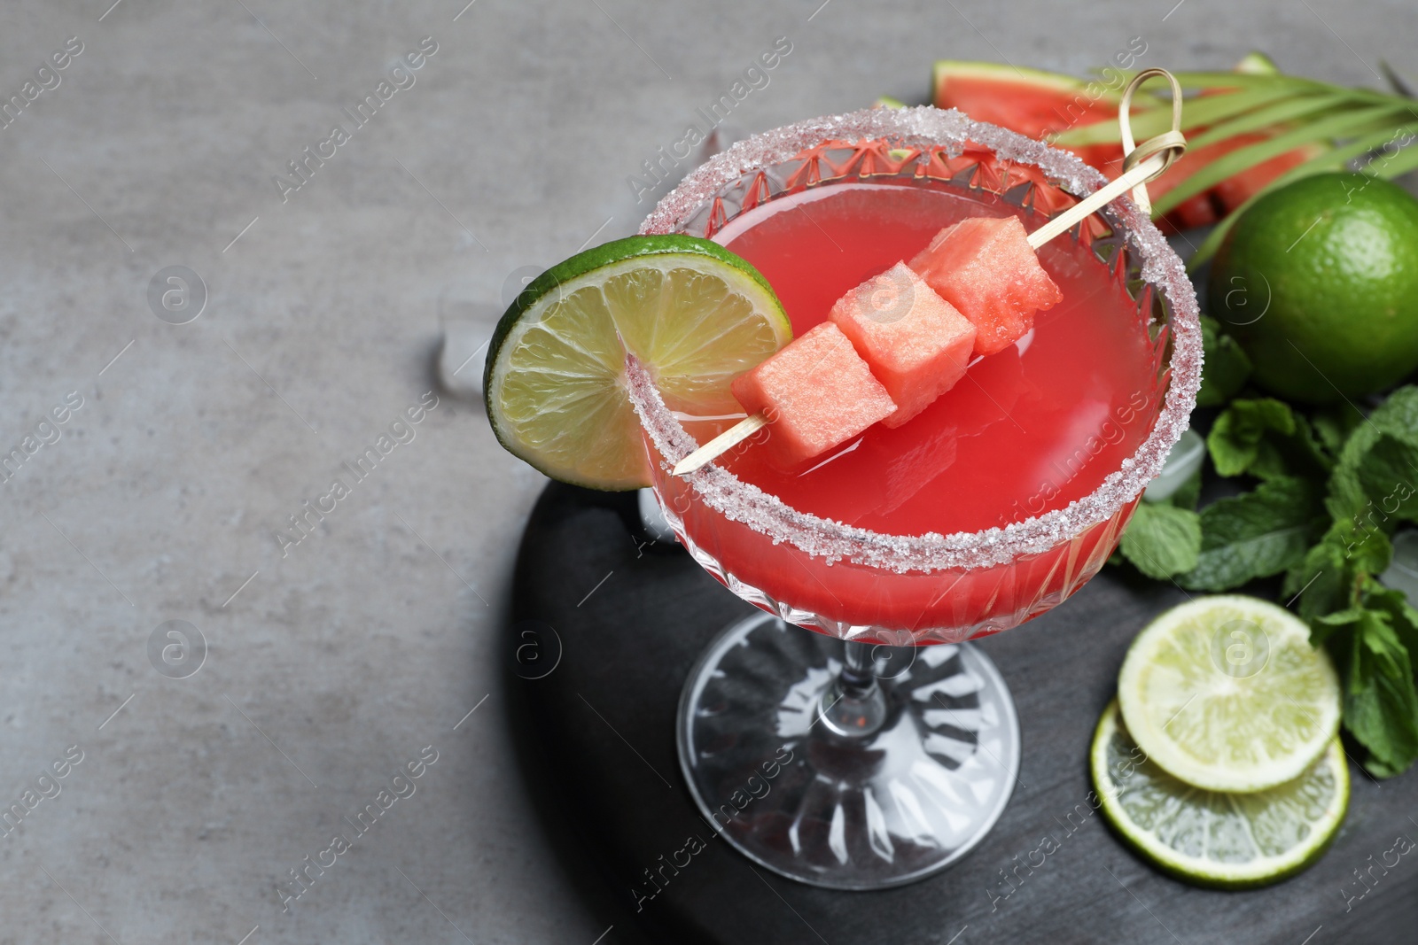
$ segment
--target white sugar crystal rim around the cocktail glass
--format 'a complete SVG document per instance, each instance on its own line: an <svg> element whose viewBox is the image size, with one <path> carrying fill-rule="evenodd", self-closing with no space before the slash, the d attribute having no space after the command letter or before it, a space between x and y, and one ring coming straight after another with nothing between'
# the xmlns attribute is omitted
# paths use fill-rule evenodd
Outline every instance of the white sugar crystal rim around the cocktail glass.
<svg viewBox="0 0 1418 945"><path fill-rule="evenodd" d="M727 184L766 166L783 163L828 140L891 139L905 147L944 147L951 154L966 142L997 157L1032 164L1075 196L1098 190L1107 179L1076 156L1041 142L976 122L929 105L909 109L872 108L786 125L737 142L691 171L645 218L642 234L678 232L696 211ZM1167 453L1187 429L1201 385L1201 322L1197 295L1181 259L1151 220L1130 197L1119 197L1102 211L1127 235L1129 249L1141 264L1141 276L1166 298L1171 317L1171 380L1161 412L1147 439L1123 459L1120 469L1088 496L1064 509L1045 511L1004 527L951 534L895 536L858 528L793 509L777 496L743 482L710 463L685 477L710 509L740 521L774 544L788 543L828 561L893 572L983 568L1010 564L1021 555L1042 554L1099 526L1133 502L1167 462ZM641 425L665 460L665 468L699 443L665 407L649 374L630 358L627 381Z"/></svg>

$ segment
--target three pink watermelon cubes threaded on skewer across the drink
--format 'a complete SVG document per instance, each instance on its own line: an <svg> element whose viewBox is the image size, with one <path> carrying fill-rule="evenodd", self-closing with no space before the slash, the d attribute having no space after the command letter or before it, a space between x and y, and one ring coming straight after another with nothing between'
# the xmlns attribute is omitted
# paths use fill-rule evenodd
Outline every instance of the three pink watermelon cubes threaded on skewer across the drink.
<svg viewBox="0 0 1418 945"><path fill-rule="evenodd" d="M1066 211L1048 232L1088 210L1085 201ZM1046 242L1046 232L1038 235ZM1017 217L946 227L909 264L856 286L827 322L736 378L733 395L750 417L683 456L674 473L700 469L769 425L778 465L811 459L878 421L900 426L954 387L971 356L1010 347L1034 327L1035 312L1062 298Z"/></svg>

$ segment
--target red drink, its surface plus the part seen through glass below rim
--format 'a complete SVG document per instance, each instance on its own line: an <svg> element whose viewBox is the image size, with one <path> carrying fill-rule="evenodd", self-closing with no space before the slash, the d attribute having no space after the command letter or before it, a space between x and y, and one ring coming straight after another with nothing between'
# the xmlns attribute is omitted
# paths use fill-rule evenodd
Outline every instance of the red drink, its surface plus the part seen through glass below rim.
<svg viewBox="0 0 1418 945"><path fill-rule="evenodd" d="M773 201L715 238L767 276L797 336L821 323L842 293L910 259L940 228L1011 213L1027 217L988 191L856 184ZM895 536L981 531L1088 496L1151 432L1164 390L1160 351L1137 302L1089 247L1059 239L1039 256L1064 302L1038 315L1032 336L976 361L964 381L910 422L876 424L807 469L784 472L769 451L753 448L720 465L793 509ZM718 432L695 426L696 439ZM784 548L764 548L744 528L709 527L696 541L712 543L726 572L820 616L906 630L943 623L988 630L1072 592L1112 551L1120 526L1045 561L1021 558L988 574L933 581L862 575L798 555L784 567ZM1086 567L1058 567L1068 555ZM1044 579L1041 568L1055 574Z"/></svg>

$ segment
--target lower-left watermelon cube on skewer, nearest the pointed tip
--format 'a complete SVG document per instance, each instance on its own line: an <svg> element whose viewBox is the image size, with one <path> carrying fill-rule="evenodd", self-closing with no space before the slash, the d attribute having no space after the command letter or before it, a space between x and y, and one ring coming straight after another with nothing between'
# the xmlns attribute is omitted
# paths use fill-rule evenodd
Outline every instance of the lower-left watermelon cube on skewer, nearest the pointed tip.
<svg viewBox="0 0 1418 945"><path fill-rule="evenodd" d="M769 443L783 465L800 463L889 417L896 404L831 322L733 381L750 414L769 417Z"/></svg>

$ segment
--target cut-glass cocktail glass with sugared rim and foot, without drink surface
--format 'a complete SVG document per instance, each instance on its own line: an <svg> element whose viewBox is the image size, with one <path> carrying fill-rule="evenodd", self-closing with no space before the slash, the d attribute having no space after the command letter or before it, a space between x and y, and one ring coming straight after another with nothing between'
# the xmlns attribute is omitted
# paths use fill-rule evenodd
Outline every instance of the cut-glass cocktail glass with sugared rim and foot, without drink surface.
<svg viewBox="0 0 1418 945"><path fill-rule="evenodd" d="M871 109L735 145L641 232L715 238L776 200L865 183L993 193L1034 228L1105 179L959 112ZM767 612L700 657L678 742L705 820L776 873L883 888L944 868L984 837L1017 781L1020 732L1004 679L967 640L1048 611L1093 577L1187 426L1201 332L1181 261L1130 200L1062 238L1090 248L1082 258L1096 278L1136 302L1154 368L1149 432L1089 494L1004 527L878 534L788 507L722 465L676 477L671 468L699 441L627 364L665 517L695 561Z"/></svg>

